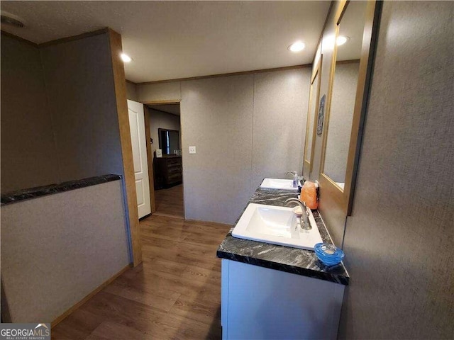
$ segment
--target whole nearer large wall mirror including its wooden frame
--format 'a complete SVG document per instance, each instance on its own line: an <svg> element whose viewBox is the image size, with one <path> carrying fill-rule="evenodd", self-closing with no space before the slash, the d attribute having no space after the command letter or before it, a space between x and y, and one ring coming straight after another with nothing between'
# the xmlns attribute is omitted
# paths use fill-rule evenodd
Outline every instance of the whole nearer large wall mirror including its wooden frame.
<svg viewBox="0 0 454 340"><path fill-rule="evenodd" d="M365 115L372 58L370 47L375 1L343 1L336 13L328 114L319 180L324 195L346 215L351 214L353 184L362 120ZM367 92L366 92L367 93Z"/></svg>

